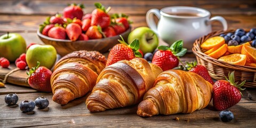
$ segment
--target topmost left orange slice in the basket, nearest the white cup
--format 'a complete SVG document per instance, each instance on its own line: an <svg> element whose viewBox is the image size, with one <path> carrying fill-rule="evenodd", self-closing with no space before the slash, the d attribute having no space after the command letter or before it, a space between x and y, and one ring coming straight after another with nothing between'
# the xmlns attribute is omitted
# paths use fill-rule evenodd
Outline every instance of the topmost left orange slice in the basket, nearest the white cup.
<svg viewBox="0 0 256 128"><path fill-rule="evenodd" d="M204 43L201 44L201 47L205 50L210 50L213 47L220 47L225 44L225 39L221 36L214 36L209 39L206 39Z"/></svg>

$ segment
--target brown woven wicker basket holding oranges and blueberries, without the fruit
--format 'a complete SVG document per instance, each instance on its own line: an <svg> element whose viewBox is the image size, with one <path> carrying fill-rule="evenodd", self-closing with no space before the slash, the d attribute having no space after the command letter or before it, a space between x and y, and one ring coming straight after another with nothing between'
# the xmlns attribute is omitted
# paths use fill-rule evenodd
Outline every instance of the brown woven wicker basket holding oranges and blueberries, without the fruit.
<svg viewBox="0 0 256 128"><path fill-rule="evenodd" d="M214 79L225 79L224 76L228 76L229 71L235 71L235 79L237 82L246 80L246 83L244 84L245 87L256 87L256 67L238 66L219 61L203 53L204 51L202 51L200 47L200 45L205 42L206 39L230 32L233 33L234 30L215 31L209 35L197 39L192 49L193 53L196 55L197 62L200 65L204 65L209 71L210 76Z"/></svg>

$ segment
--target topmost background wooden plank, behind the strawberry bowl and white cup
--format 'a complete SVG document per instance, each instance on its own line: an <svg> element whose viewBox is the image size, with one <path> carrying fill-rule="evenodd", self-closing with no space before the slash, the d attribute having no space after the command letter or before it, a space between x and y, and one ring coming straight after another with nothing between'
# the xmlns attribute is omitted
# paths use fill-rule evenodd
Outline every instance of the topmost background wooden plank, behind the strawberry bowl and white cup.
<svg viewBox="0 0 256 128"><path fill-rule="evenodd" d="M149 9L162 9L166 6L196 6L211 11L213 14L256 14L256 1L97 1L105 6L111 6L110 13L123 12L132 15L144 15ZM1 14L55 14L69 3L83 3L84 12L91 12L95 1L44 1L44 0L2 0L0 1ZM8 6L8 7L6 7Z"/></svg>

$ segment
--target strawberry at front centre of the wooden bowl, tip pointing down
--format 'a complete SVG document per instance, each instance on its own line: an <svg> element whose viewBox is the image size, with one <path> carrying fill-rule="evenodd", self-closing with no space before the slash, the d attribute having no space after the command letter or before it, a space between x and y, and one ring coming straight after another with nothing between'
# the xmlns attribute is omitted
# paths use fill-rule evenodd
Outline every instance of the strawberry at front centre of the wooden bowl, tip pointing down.
<svg viewBox="0 0 256 128"><path fill-rule="evenodd" d="M77 23L69 23L66 27L66 33L71 41L76 41L82 34L82 29Z"/></svg>

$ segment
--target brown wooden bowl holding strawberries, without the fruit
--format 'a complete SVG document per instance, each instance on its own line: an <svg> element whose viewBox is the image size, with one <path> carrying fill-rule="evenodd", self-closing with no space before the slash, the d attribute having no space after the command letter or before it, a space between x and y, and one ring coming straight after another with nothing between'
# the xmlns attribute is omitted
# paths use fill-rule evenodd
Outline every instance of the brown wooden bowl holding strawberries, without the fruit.
<svg viewBox="0 0 256 128"><path fill-rule="evenodd" d="M127 37L131 32L131 26L124 33L120 34L124 40L127 41ZM108 52L114 45L119 42L117 39L121 39L119 35L102 38L102 39L89 39L88 41L70 41L68 39L55 39L45 36L37 30L37 36L45 44L50 44L55 47L57 53L62 57L70 52L87 50L87 51L99 51L101 53Z"/></svg>

